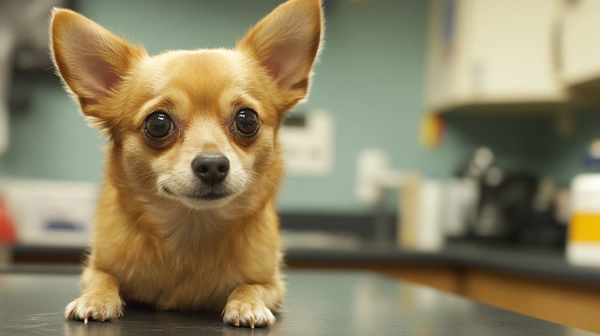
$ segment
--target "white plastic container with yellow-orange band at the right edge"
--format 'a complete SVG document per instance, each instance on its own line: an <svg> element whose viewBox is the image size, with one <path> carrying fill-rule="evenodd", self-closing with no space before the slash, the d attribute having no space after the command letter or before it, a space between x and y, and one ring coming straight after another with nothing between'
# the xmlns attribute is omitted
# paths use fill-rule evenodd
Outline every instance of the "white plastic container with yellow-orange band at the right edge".
<svg viewBox="0 0 600 336"><path fill-rule="evenodd" d="M600 266L600 174L581 174L571 183L567 260Z"/></svg>

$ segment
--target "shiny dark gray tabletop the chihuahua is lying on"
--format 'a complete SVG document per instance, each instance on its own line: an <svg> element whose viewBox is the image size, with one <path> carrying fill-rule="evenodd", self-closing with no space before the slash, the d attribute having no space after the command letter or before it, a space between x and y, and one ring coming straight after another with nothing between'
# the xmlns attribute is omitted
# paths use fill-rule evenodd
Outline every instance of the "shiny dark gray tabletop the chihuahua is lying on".
<svg viewBox="0 0 600 336"><path fill-rule="evenodd" d="M0 274L0 335L594 335L373 273L287 272L271 328L241 329L219 313L126 307L115 322L63 317L75 274Z"/></svg>

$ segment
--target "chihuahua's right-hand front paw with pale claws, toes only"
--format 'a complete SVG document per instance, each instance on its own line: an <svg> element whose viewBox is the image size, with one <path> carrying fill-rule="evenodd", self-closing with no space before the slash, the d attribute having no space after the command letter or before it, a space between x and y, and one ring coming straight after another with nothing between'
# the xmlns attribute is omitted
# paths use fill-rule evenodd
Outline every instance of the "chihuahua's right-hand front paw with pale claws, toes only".
<svg viewBox="0 0 600 336"><path fill-rule="evenodd" d="M223 322L254 329L272 326L275 316L262 302L233 300L223 310Z"/></svg>

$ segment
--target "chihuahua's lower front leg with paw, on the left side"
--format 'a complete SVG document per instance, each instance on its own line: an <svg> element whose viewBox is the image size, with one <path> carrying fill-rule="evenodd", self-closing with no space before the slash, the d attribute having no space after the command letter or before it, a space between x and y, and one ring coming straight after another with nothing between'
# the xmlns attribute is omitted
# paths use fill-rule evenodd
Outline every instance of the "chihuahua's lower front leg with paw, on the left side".
<svg viewBox="0 0 600 336"><path fill-rule="evenodd" d="M112 275L87 267L81 275L81 296L67 305L69 319L96 321L115 320L123 315L119 283Z"/></svg>

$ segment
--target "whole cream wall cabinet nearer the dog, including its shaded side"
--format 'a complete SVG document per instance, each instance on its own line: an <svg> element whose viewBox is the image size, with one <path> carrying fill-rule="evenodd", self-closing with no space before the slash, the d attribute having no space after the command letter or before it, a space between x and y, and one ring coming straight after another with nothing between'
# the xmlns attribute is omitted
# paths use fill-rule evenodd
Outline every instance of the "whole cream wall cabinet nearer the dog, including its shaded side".
<svg viewBox="0 0 600 336"><path fill-rule="evenodd" d="M427 108L514 111L564 103L558 67L562 1L432 0Z"/></svg>

